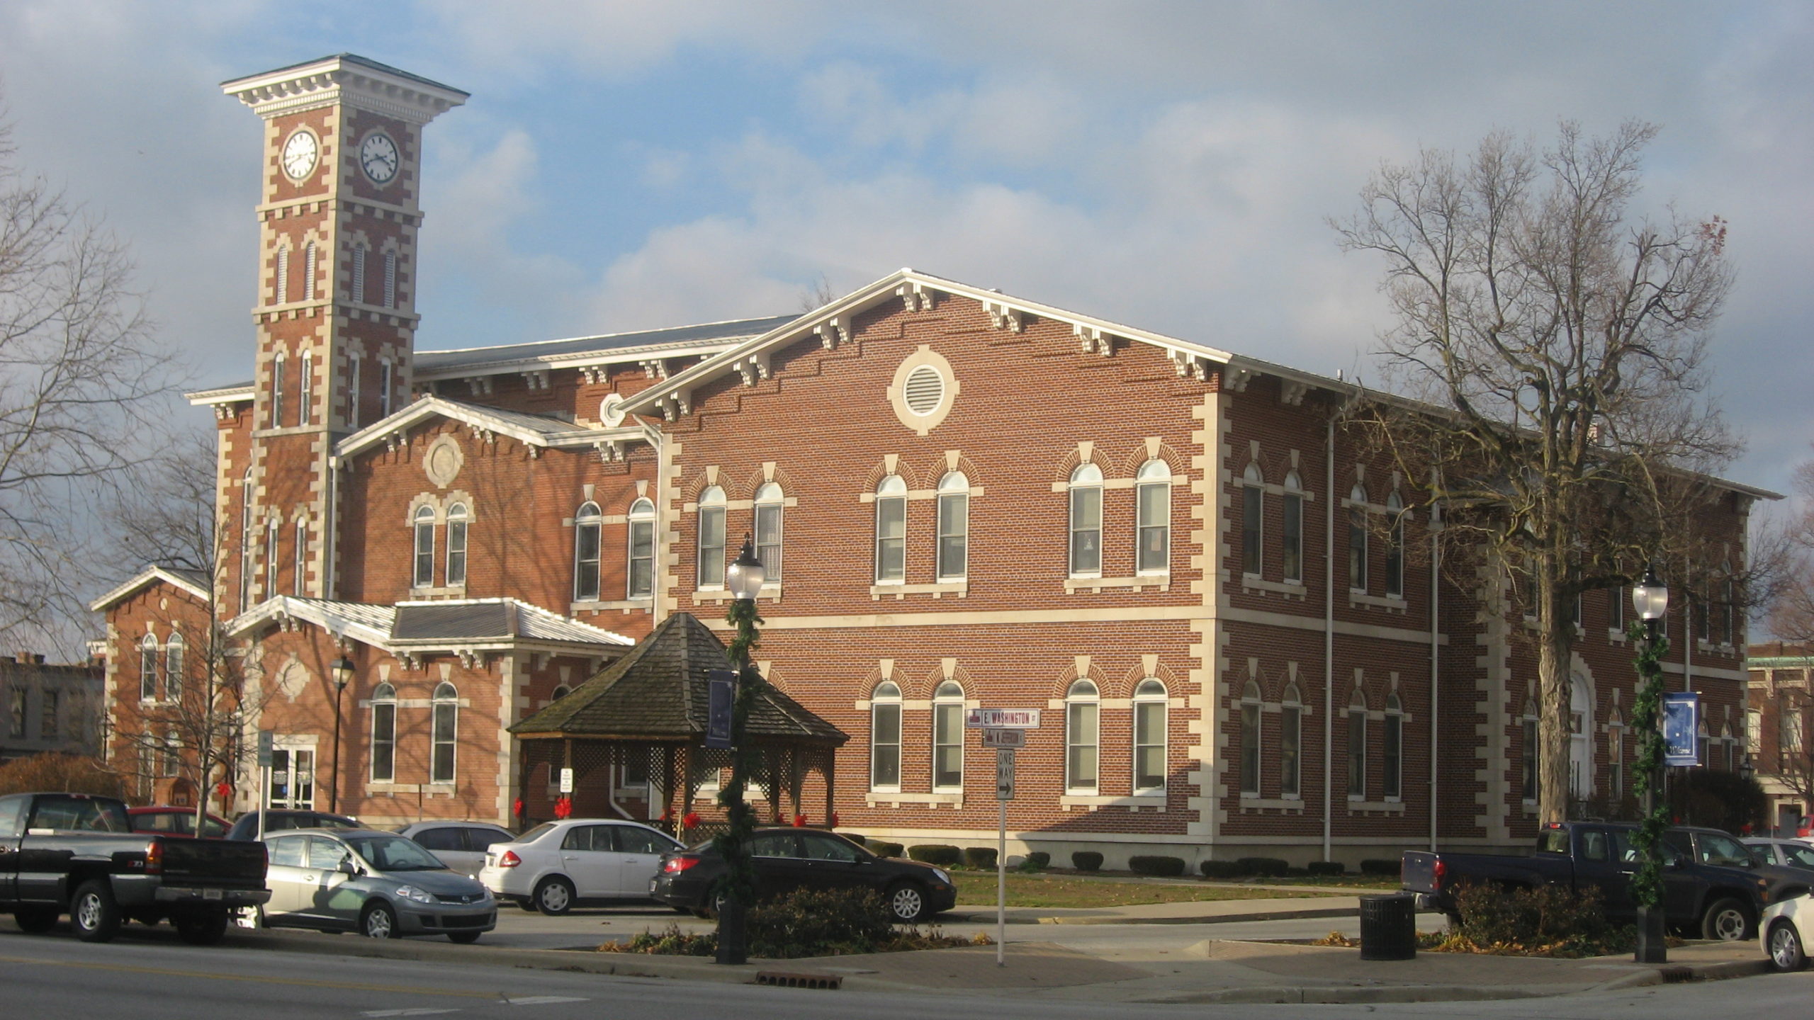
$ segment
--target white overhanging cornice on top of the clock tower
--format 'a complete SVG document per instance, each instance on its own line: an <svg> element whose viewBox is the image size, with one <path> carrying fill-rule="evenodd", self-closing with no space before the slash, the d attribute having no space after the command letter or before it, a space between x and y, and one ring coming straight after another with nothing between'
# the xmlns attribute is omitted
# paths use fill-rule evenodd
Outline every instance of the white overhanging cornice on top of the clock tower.
<svg viewBox="0 0 1814 1020"><path fill-rule="evenodd" d="M352 53L221 82L221 91L267 118L337 102L417 125L468 98L450 85Z"/></svg>

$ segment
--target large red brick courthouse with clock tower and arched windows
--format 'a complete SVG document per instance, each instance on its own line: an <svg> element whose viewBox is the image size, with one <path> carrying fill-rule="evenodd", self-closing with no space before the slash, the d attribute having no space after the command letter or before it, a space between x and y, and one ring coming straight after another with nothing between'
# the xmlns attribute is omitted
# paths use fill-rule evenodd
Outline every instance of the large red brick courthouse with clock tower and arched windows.
<svg viewBox="0 0 1814 1020"><path fill-rule="evenodd" d="M1506 581L1433 568L1415 488L1337 425L1353 387L914 270L804 316L419 352L421 129L464 93L356 56L225 87L265 118L254 381L192 396L227 555L212 590L147 570L103 601L118 731L212 599L278 800L548 817L508 728L673 613L724 633L747 532L758 664L849 735L847 829L992 840L981 706L1043 711L1016 849L1351 866L1533 835L1527 628ZM1734 563L1758 495L1709 510ZM1682 603L1665 670L1736 748L1743 633ZM1584 599L1582 800L1629 793L1622 604ZM624 764L575 808L677 799Z"/></svg>

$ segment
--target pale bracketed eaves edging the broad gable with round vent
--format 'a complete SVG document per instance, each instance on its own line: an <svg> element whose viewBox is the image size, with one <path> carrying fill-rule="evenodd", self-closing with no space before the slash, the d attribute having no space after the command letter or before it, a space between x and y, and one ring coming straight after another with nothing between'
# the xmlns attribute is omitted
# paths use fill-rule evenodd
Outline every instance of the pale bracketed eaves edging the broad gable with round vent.
<svg viewBox="0 0 1814 1020"><path fill-rule="evenodd" d="M1114 343L1110 338L1148 343L1166 350L1177 361L1179 372L1201 372L1203 363L1226 365L1234 358L1234 354L1206 343L1179 339L1027 298L1014 298L1000 290L985 290L969 283L958 283L956 280L902 269L631 396L624 401L624 410L629 414L649 414L660 408L668 417L673 417L675 410L686 414L691 392L704 383L729 372L744 372L746 381L755 381L758 376L766 378L767 356L782 347L807 338L818 338L825 347L834 347L849 339L851 318L858 312L865 312L883 301L903 301L909 309L931 307L929 303L936 294L978 301L1000 329L1012 329L1016 332L1021 329L1023 316L1070 323L1072 334L1078 336L1085 350L1107 354Z"/></svg>

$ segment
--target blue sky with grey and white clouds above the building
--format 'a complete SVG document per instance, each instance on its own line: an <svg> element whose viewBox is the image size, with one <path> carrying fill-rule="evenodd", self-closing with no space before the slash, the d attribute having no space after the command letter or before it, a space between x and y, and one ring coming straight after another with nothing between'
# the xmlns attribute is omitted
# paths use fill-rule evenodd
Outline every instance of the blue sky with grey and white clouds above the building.
<svg viewBox="0 0 1814 1020"><path fill-rule="evenodd" d="M352 51L428 129L421 348L793 312L903 265L1333 374L1382 160L1663 125L1645 201L1731 221L1716 388L1785 490L1814 439L1814 5L5 0L20 162L132 245L196 385L250 376L258 118L218 82ZM201 414L201 412L190 412Z"/></svg>

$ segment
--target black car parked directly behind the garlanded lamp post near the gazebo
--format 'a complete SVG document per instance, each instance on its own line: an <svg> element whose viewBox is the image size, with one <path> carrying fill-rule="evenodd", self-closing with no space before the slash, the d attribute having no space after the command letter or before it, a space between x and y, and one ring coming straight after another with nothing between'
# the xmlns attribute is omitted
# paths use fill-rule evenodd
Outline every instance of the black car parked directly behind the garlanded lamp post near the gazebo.
<svg viewBox="0 0 1814 1020"><path fill-rule="evenodd" d="M854 842L814 829L756 829L749 842L756 866L756 895L773 898L793 889L874 889L894 920L916 924L956 906L958 888L943 868L918 860L876 857ZM698 844L662 858L649 895L700 915L718 907L724 857Z"/></svg>

